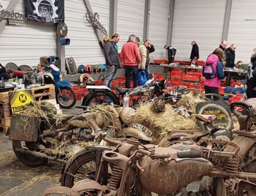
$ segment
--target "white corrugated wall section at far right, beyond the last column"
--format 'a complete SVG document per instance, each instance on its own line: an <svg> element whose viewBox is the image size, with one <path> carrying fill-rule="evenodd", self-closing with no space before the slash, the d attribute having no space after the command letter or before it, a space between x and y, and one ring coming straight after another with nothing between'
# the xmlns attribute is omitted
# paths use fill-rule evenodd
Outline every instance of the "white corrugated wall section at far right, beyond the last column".
<svg viewBox="0 0 256 196"><path fill-rule="evenodd" d="M227 46L236 44L235 62L249 63L256 47L256 1L232 0Z"/></svg>

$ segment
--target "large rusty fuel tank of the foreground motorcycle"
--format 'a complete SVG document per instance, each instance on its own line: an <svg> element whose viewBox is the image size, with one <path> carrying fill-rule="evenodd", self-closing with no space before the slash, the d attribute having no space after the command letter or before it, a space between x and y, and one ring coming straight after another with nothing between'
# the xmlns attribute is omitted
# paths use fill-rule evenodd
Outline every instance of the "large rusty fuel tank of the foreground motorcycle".
<svg viewBox="0 0 256 196"><path fill-rule="evenodd" d="M156 148L156 154L175 153L179 150L170 147ZM139 171L141 185L156 194L169 195L180 190L213 169L211 162L203 158L173 159L170 162L152 160L143 156L140 165L148 166Z"/></svg>

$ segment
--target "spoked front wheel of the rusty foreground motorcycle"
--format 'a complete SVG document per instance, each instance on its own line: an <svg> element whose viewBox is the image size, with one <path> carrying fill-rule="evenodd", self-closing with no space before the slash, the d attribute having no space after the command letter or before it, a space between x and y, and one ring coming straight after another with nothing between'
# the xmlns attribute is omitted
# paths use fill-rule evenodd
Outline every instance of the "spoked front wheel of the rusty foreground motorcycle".
<svg viewBox="0 0 256 196"><path fill-rule="evenodd" d="M111 173L108 165L107 176ZM95 179L96 174L96 153L89 152L76 158L73 163L63 172L62 186L73 187L75 183L83 179Z"/></svg>

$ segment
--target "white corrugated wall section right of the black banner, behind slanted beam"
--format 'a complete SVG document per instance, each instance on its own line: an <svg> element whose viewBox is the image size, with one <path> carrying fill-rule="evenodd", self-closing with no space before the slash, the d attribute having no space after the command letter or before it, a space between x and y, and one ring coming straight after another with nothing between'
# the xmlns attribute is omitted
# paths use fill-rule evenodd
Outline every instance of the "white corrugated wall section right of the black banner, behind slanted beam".
<svg viewBox="0 0 256 196"><path fill-rule="evenodd" d="M99 23L109 30L109 0L90 0L93 12L99 15ZM92 24L85 14L87 9L83 0L65 0L65 23L68 26L67 37L71 42L65 47L65 56L73 57L80 64L104 63L102 49ZM103 36L103 35L102 35Z"/></svg>

